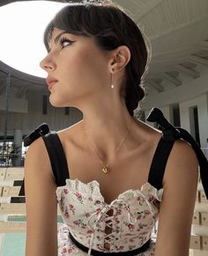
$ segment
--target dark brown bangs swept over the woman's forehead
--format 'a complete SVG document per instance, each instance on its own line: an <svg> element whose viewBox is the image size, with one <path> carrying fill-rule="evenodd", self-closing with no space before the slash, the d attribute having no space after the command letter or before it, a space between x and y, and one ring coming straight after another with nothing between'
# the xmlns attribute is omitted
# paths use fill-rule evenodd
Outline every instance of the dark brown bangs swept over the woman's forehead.
<svg viewBox="0 0 208 256"><path fill-rule="evenodd" d="M114 16L119 19L114 19ZM114 21L112 22L112 20ZM111 45L109 49L115 49L118 46L118 43L115 43L117 40L115 40L115 36L112 40L110 37L114 27L117 30L122 21L122 11L112 5L69 4L63 7L49 22L43 35L43 41L46 49L49 49L48 42L52 38L54 29L58 28L69 34L106 37Z"/></svg>

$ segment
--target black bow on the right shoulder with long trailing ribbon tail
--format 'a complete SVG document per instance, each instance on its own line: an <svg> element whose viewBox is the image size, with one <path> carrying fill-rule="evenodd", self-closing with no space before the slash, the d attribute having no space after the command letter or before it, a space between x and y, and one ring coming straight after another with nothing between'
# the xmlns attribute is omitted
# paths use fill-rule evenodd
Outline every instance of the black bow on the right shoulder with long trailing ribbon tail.
<svg viewBox="0 0 208 256"><path fill-rule="evenodd" d="M170 124L166 117L164 117L162 111L158 108L153 108L148 117L146 117L146 120L149 122L156 122L160 125L160 130L163 132L164 139L175 140L181 138L187 141L195 150L200 167L200 177L206 198L208 199L208 162L201 148L198 146L197 141L193 139L193 137L186 130Z"/></svg>

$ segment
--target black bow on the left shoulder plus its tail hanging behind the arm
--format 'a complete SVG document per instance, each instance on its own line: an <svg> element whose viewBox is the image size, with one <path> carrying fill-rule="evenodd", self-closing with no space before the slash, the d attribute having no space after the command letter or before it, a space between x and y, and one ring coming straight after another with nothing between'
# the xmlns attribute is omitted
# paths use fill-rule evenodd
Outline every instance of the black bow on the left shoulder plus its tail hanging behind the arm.
<svg viewBox="0 0 208 256"><path fill-rule="evenodd" d="M29 135L27 135L24 139L24 146L28 147L35 139L40 138L41 136L47 134L49 132L48 124L41 124L39 125L34 132L31 132ZM21 184L21 188L19 191L19 196L25 196L25 178L23 179L23 182Z"/></svg>

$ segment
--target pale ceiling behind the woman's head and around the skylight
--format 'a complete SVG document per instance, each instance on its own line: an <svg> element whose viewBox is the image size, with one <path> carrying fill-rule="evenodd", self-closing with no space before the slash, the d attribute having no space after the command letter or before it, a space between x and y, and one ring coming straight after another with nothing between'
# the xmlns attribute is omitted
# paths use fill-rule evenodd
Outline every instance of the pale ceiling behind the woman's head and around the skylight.
<svg viewBox="0 0 208 256"><path fill-rule="evenodd" d="M2 0L0 6L13 2L18 1ZM208 0L113 2L130 13L138 26L145 29L151 41L152 61L145 79L148 94L159 94L180 87L186 81L197 79L208 72ZM13 93L19 97L24 97L31 84L40 85L33 87L40 89L45 83L44 79L19 72L0 62L0 94L4 91L7 72L11 72L11 84L22 92L19 94L19 90L13 88Z"/></svg>

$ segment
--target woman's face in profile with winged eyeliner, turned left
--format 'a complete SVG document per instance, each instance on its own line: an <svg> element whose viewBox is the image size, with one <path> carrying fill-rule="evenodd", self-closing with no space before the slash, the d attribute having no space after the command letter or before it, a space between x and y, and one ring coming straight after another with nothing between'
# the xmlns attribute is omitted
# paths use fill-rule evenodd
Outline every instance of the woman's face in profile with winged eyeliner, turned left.
<svg viewBox="0 0 208 256"><path fill-rule="evenodd" d="M108 52L93 37L67 34L54 29L48 55L41 68L48 72L49 100L53 106L78 106L110 87ZM56 79L55 82L51 80Z"/></svg>

